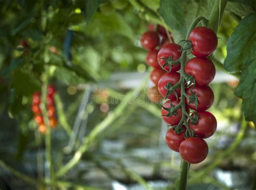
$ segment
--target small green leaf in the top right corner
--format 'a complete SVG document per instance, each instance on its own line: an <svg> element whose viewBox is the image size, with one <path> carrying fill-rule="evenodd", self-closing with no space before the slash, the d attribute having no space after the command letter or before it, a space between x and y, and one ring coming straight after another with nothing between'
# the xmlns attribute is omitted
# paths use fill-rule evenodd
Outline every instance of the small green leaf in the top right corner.
<svg viewBox="0 0 256 190"><path fill-rule="evenodd" d="M254 13L256 11L256 6L248 5L248 4L240 4L228 2L226 5L226 10L235 13L238 16L246 16L250 13Z"/></svg>

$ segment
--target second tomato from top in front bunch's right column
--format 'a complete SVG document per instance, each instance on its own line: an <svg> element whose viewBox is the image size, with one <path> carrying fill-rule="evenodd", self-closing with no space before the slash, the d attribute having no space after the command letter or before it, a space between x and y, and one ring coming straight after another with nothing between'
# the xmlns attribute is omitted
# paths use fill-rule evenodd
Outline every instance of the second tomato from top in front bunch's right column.
<svg viewBox="0 0 256 190"><path fill-rule="evenodd" d="M195 57L187 61L185 73L192 75L197 85L205 86L212 82L216 70L210 59Z"/></svg>

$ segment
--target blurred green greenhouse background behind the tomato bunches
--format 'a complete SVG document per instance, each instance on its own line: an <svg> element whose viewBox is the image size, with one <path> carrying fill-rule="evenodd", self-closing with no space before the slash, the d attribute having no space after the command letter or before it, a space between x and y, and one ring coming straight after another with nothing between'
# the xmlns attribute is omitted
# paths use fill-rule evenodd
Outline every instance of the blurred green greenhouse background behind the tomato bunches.
<svg viewBox="0 0 256 190"><path fill-rule="evenodd" d="M163 21L154 17L159 1L139 1L149 13L136 2L103 1L87 24L83 1L0 1L0 189L173 189L181 159L165 144L160 103L147 98L151 68L139 43L148 24ZM206 160L191 165L190 190L255 184L255 126L245 122L234 96L237 77L223 70L238 22L226 11L217 34L210 111L218 128L206 139ZM173 38L180 40L174 32ZM19 48L22 40L28 47ZM41 180L49 178L49 163L31 111L32 94L45 78L44 85L56 88L54 187Z"/></svg>

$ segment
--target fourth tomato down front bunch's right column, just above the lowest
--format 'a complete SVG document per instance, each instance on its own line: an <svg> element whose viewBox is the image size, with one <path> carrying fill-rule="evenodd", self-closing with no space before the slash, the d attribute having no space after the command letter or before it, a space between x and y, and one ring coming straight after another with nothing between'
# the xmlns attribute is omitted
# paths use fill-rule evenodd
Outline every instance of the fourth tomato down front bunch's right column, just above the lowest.
<svg viewBox="0 0 256 190"><path fill-rule="evenodd" d="M198 122L196 124L188 122L190 129L194 131L194 135L198 135L200 138L211 137L217 129L216 118L208 111L198 111L197 113Z"/></svg>

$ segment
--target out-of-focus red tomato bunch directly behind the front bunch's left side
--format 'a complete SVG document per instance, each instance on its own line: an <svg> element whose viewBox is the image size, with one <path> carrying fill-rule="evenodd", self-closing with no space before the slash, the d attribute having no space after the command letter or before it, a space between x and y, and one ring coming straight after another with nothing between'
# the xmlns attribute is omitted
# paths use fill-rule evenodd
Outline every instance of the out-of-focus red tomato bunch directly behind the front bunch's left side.
<svg viewBox="0 0 256 190"><path fill-rule="evenodd" d="M160 67L158 64L158 52L159 48L165 44L169 44L169 38L167 36L166 30L163 26L154 24L149 24L149 31L145 32L140 38L140 44L145 50L149 50L146 55L146 63L153 70L150 74L151 81L154 83L154 87L150 88L147 92L149 100L153 103L159 103L162 100L162 96L159 93L158 81L161 76L166 73L166 71Z"/></svg>

